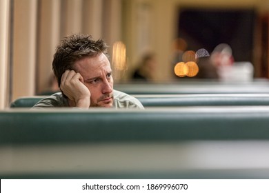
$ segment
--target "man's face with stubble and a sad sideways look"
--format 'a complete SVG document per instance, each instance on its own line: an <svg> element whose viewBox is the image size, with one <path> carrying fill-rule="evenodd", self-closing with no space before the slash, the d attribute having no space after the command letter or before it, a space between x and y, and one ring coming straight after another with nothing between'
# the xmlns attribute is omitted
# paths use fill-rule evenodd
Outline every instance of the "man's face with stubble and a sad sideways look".
<svg viewBox="0 0 269 193"><path fill-rule="evenodd" d="M90 107L111 108L113 105L113 78L110 62L105 54L86 57L74 63L74 70L83 77L90 90Z"/></svg>

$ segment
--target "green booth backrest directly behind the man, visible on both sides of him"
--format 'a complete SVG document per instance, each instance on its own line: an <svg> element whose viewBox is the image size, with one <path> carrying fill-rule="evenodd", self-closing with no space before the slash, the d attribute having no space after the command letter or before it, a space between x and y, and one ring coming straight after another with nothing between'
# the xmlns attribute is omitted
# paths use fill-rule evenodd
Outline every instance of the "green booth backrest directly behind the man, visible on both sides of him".
<svg viewBox="0 0 269 193"><path fill-rule="evenodd" d="M269 105L269 94L136 94L144 107ZM31 108L45 96L21 97L10 108Z"/></svg>

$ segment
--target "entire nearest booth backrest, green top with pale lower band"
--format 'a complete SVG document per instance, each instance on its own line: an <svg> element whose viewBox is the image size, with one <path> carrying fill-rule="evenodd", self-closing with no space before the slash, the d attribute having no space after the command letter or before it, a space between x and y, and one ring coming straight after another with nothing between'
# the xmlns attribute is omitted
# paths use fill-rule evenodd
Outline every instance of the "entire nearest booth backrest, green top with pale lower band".
<svg viewBox="0 0 269 193"><path fill-rule="evenodd" d="M269 107L0 111L0 177L268 179Z"/></svg>

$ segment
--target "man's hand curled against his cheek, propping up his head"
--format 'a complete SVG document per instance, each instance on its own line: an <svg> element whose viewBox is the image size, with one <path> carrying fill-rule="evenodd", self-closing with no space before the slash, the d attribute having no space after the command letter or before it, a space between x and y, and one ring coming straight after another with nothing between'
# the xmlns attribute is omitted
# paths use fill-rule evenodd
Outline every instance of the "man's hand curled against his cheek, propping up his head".
<svg viewBox="0 0 269 193"><path fill-rule="evenodd" d="M68 96L70 105L78 108L90 107L90 90L83 84L84 80L79 72L66 70L61 76L60 88Z"/></svg>

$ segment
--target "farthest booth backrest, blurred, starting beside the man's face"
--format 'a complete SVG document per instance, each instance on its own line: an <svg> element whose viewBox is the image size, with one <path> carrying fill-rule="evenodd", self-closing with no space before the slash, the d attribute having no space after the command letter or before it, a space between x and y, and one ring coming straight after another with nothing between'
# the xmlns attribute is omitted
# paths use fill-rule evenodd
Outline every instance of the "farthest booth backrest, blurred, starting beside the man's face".
<svg viewBox="0 0 269 193"><path fill-rule="evenodd" d="M203 82L179 81L177 83L126 83L116 84L114 89L128 94L233 94L269 93L268 81L251 82Z"/></svg>

